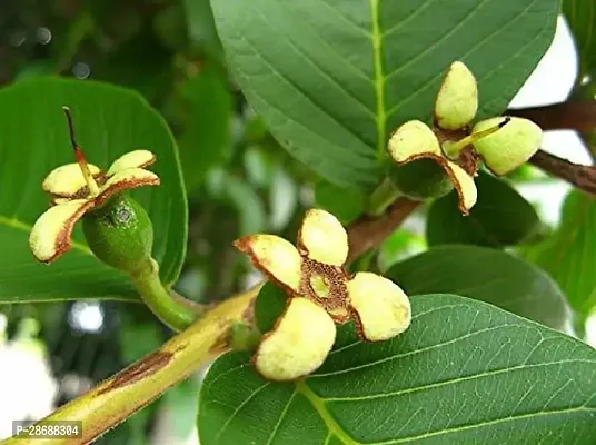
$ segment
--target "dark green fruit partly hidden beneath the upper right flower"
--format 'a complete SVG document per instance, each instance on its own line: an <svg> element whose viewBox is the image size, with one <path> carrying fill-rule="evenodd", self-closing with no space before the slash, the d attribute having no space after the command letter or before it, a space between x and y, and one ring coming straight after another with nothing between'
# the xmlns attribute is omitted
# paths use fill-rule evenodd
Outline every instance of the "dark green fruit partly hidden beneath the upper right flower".
<svg viewBox="0 0 596 445"><path fill-rule="evenodd" d="M445 170L433 159L391 166L388 176L401 195L415 200L439 198L454 188Z"/></svg>

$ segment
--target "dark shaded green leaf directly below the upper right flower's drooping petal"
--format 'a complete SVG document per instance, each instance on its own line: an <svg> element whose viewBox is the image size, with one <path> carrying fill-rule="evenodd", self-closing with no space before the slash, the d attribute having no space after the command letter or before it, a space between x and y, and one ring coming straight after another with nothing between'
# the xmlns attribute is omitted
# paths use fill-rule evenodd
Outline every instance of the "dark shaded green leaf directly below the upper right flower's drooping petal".
<svg viewBox="0 0 596 445"><path fill-rule="evenodd" d="M491 175L476 178L478 202L468 216L457 209L455 191L433 202L428 210L426 237L430 246L475 244L505 247L528 238L539 228L532 205L511 186Z"/></svg>

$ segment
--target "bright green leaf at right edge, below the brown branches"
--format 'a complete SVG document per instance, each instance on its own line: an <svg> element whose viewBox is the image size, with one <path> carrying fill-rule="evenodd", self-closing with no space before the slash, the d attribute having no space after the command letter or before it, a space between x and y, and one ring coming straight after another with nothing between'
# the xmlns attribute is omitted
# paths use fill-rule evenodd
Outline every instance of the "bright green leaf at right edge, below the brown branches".
<svg viewBox="0 0 596 445"><path fill-rule="evenodd" d="M575 310L588 314L596 306L595 249L596 201L573 190L557 231L524 255L555 278Z"/></svg>

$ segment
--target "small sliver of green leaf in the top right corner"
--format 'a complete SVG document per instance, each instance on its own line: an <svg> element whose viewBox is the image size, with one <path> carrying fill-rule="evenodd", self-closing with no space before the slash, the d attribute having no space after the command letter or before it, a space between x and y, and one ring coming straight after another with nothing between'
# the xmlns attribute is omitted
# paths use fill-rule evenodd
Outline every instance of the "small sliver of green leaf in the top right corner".
<svg viewBox="0 0 596 445"><path fill-rule="evenodd" d="M579 55L579 78L596 68L596 1L563 0L563 13Z"/></svg>

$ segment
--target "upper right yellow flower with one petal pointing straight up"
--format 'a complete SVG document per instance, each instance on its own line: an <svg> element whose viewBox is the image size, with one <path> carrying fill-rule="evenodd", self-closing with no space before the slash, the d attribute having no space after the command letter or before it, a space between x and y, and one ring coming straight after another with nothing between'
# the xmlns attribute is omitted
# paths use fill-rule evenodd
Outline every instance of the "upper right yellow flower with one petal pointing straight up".
<svg viewBox="0 0 596 445"><path fill-rule="evenodd" d="M458 207L467 215L477 200L474 177L484 160L494 175L506 175L526 162L540 147L542 129L528 119L496 117L474 128L478 110L476 78L460 61L451 63L435 102L433 129L419 120L400 126L387 150L397 165L431 159L449 177Z"/></svg>

